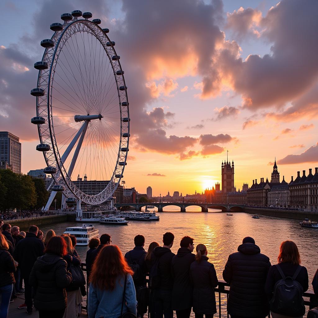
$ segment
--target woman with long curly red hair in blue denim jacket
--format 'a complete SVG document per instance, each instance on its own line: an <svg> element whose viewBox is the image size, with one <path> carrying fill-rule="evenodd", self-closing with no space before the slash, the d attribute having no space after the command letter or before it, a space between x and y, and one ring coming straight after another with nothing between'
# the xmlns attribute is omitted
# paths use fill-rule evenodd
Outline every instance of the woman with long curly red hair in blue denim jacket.
<svg viewBox="0 0 318 318"><path fill-rule="evenodd" d="M137 314L133 271L116 245L105 245L99 252L90 274L89 318L120 317Z"/></svg>

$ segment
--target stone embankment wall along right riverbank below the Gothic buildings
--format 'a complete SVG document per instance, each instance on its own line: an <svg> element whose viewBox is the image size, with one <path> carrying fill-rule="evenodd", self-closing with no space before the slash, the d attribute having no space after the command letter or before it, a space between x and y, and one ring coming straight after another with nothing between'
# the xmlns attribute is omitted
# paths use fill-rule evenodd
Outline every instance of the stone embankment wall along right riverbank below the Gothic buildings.
<svg viewBox="0 0 318 318"><path fill-rule="evenodd" d="M289 211L280 209L262 209L253 207L245 207L244 210L246 213L249 214L259 214L269 217L291 218L296 220L303 220L304 218L309 218L312 221L318 221L318 213L315 212Z"/></svg>

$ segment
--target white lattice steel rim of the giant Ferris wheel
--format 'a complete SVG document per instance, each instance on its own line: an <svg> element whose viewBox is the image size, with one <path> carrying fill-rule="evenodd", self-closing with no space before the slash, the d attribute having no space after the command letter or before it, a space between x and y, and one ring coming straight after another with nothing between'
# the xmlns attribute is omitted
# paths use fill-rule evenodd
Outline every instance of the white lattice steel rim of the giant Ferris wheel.
<svg viewBox="0 0 318 318"><path fill-rule="evenodd" d="M60 172L60 177L57 176L57 175L52 175L56 184L65 184L66 187L68 188L68 190L75 196L77 197L78 199L81 199L83 202L86 202L86 203L91 203L91 202L95 202L95 204L99 204L99 203L102 203L105 201L105 199L101 199L100 197L102 197L102 195L105 194L105 192L107 192L107 187L108 185L110 184L110 190L111 192L109 193L108 195L108 198L111 197L114 193L114 191L116 190L116 188L118 187L118 185L120 184L120 180L121 180L121 177L122 177L122 174L124 172L124 169L125 169L125 165L126 165L126 161L127 161L127 156L128 156L128 145L129 145L129 121L127 123L127 127L126 127L126 131L128 132L128 136L127 136L127 139L125 141L125 144L127 145L126 149L127 151L125 152L125 155L124 157L121 156L122 159L124 159L124 165L123 166L119 166L119 159L120 159L120 154L122 152L121 150L121 145L122 145L122 139L123 139L123 135L122 135L122 132L123 132L123 128L122 128L122 102L123 100L121 99L122 95L120 95L120 92L119 92L119 84L118 84L118 80L116 78L116 75L115 75L115 68L114 68L114 63L110 57L110 55L108 54L107 52L107 49L106 49L106 45L105 45L105 41L104 43L102 43L101 39L98 37L98 35L96 33L93 32L92 28L89 28L91 30L91 32L88 32L88 31L83 31L83 32L87 32L87 33L91 33L92 36L94 36L99 42L100 42L100 45L103 47L104 49L104 52L106 53L108 59L109 59L109 62L112 66L112 69L114 71L114 80L115 80L115 83L116 83L116 86L117 86L117 92L118 92L118 99L119 99L119 107L120 107L120 119L121 119L121 128L120 128L120 141L119 141L119 149L118 149L118 154L117 154L117 161L116 161L116 165L114 167L114 171L113 171L113 175L111 177L111 179L109 180L109 183L108 185L106 186L106 188L104 188L100 193L98 194L95 194L95 195L88 195L86 193L84 193L82 190L80 190L74 183L73 181L71 180L71 177L68 176L67 174L67 171L66 171L66 168L64 167L64 163L61 162L61 154L59 152L59 148L57 146L57 142L56 142L56 136L54 134L54 124L53 124L53 121L51 122L51 118L50 118L50 115L52 115L52 81L53 81L53 78L52 78L52 70L53 70L53 66L56 66L56 63L57 61L55 60L56 58L56 54L57 52L61 52L62 48L63 48L63 45L60 47L60 42L63 38L63 36L65 35L66 31L70 29L71 26L75 25L75 24L85 24L86 26L90 25L92 28L97 28L97 30L99 30L102 34L103 37L105 37L109 42L110 39L108 38L107 34L104 33L104 31L96 24L94 24L92 21L90 20L87 20L87 19L75 19L73 20L72 22L70 23L67 23L66 27L63 29L63 31L59 34L59 38L57 40L57 42L55 43L55 47L54 47L54 53L52 54L52 57L51 57L51 64L50 64L50 71L49 71L49 75L48 75L48 84L47 84L47 120L48 120L48 126L49 126L49 131L50 131L50 136L51 136L51 145L52 145L52 150L53 150L53 153L54 153L54 157L55 157L55 162L56 162L56 166L58 167L59 169L59 172ZM72 34L68 37L70 38L72 35L74 35L75 33L77 33L79 31L76 31L76 32L72 32ZM56 35L57 32L54 32L52 38ZM52 39L51 38L51 39ZM67 40L66 40L67 41ZM66 43L65 41L65 43ZM65 44L64 43L64 44ZM112 52L115 54L115 56L118 57L113 45L111 45L111 49L112 49ZM46 57L46 54L48 54L48 50L45 50L44 54L43 54L43 57L42 57L42 62L44 62L45 60L45 57ZM128 95L127 95L127 87L126 87L126 83L125 83L125 79L124 79L124 76L123 76L123 72L122 72L122 68L121 68L121 64L120 64L120 61L119 59L117 60L117 63L118 63L118 67L119 69L121 70L121 77L122 77L122 82L124 84L124 87L125 87L125 98L124 100L126 101L126 104L127 104L127 109L126 109L126 113L128 114L128 118L129 118L129 108L128 108ZM40 86L39 85L39 79L40 79L40 73L41 71L39 72L39 76L38 76L38 87ZM53 76L54 76L54 73L53 73ZM38 115L38 98L37 98L37 115ZM38 132L39 132L39 138L40 138L40 142L42 143L42 133L41 133L41 129L40 129L40 125L38 125ZM46 156L46 153L44 152L44 157L45 157L45 161L47 163L47 166L49 166L49 160ZM118 168L120 167L120 168ZM118 182L113 182L113 179L114 179L114 176L115 176L115 173L117 170L121 170L121 177L119 178ZM61 180L63 179L63 180ZM114 184L114 187L112 188L112 184ZM67 191L67 192L69 192ZM68 193L69 194L69 193ZM81 198L79 197L79 195L81 195ZM69 197L69 195L68 195ZM100 199L99 199L100 198ZM95 200L94 200L95 199ZM97 200L96 200L97 199Z"/></svg>

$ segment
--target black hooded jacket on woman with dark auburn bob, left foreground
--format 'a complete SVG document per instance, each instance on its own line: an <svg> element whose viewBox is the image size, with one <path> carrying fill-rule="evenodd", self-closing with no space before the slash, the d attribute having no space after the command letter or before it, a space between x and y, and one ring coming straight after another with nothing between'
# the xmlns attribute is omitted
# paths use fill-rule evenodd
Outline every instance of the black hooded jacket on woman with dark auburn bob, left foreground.
<svg viewBox="0 0 318 318"><path fill-rule="evenodd" d="M46 253L32 268L29 282L35 289L34 306L40 310L66 308L65 287L72 282L67 263L59 255Z"/></svg>

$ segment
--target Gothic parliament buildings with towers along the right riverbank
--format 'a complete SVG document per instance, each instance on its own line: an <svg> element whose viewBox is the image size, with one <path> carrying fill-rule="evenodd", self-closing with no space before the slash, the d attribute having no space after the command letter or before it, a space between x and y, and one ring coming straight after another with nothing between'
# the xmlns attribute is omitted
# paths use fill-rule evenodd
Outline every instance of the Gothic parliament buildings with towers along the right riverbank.
<svg viewBox="0 0 318 318"><path fill-rule="evenodd" d="M236 190L234 182L234 161L222 161L221 164L222 188L219 183L212 189L204 191L206 202L228 203L228 204L247 204L260 207L280 207L280 208L300 208L310 211L318 209L318 168L315 174L312 169L306 176L303 170L302 176L297 171L297 177L291 177L289 183L283 176L280 182L280 172L276 164L273 165L271 180L261 177L252 180L249 188L248 183L244 183L242 190Z"/></svg>

